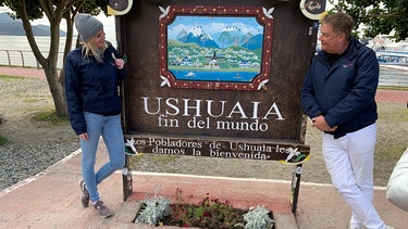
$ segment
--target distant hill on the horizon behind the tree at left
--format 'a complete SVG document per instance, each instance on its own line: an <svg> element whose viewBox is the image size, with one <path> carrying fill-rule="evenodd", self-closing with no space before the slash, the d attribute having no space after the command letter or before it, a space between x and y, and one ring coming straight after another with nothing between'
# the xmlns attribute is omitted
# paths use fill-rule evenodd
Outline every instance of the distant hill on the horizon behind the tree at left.
<svg viewBox="0 0 408 229"><path fill-rule="evenodd" d="M33 25L34 36L50 36L50 26ZM0 36L25 36L21 20L13 20L7 13L0 13ZM65 37L66 33L60 30L60 36Z"/></svg>

